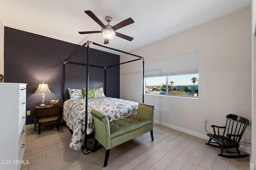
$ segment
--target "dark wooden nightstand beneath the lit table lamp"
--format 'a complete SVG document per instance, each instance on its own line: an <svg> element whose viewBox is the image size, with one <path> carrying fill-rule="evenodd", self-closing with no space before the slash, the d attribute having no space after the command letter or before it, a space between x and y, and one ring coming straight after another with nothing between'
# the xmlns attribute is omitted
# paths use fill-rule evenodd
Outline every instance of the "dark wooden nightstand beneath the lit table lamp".
<svg viewBox="0 0 256 170"><path fill-rule="evenodd" d="M40 119L49 118L49 117L58 117L60 120L61 115L60 115L59 105L53 105L53 106L46 105L43 107L36 106L35 118L34 118L34 128L35 128L34 130L36 131L36 123L38 123Z"/></svg>

